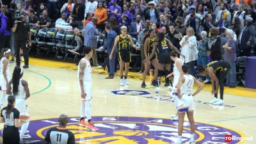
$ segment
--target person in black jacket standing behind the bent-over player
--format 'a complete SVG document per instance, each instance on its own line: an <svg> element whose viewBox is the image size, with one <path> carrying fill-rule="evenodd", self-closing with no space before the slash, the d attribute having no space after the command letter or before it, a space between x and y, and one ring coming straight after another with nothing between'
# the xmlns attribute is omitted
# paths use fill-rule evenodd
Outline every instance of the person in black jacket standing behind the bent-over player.
<svg viewBox="0 0 256 144"><path fill-rule="evenodd" d="M208 62L221 60L221 38L218 36L218 28L210 29L211 36L207 40L206 50L209 56Z"/></svg>

